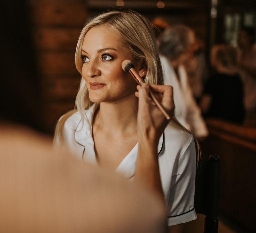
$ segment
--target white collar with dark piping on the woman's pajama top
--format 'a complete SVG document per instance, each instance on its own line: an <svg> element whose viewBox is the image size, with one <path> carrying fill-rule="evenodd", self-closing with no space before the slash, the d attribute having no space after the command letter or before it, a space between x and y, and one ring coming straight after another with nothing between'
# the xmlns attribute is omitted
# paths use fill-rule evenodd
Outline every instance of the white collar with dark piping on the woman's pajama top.
<svg viewBox="0 0 256 233"><path fill-rule="evenodd" d="M91 125L95 111L99 108L99 104L94 104L90 109L86 110L86 120L81 120L78 122L76 129L74 131L74 140L81 146L84 146L82 159L90 163L97 164L96 154L94 151L94 141L92 137ZM164 132L162 133L157 151L158 155L161 155L164 150ZM138 143L133 147L133 149L125 156L122 162L117 167L116 171L124 174L126 178L131 178L135 173L136 161L138 153Z"/></svg>

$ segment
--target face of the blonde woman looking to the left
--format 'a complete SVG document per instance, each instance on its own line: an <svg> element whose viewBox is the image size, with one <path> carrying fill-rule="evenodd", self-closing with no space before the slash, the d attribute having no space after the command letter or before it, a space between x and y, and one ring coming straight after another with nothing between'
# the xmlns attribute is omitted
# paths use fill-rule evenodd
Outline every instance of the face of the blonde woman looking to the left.
<svg viewBox="0 0 256 233"><path fill-rule="evenodd" d="M140 65L132 59L117 32L104 25L90 29L84 37L81 59L82 77L92 102L111 102L134 96L136 82L122 70L122 62L131 60L137 71Z"/></svg>

